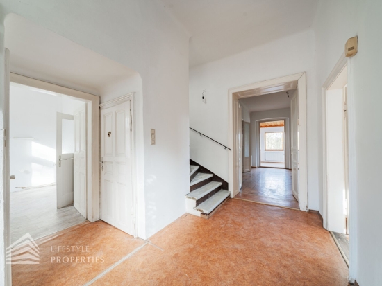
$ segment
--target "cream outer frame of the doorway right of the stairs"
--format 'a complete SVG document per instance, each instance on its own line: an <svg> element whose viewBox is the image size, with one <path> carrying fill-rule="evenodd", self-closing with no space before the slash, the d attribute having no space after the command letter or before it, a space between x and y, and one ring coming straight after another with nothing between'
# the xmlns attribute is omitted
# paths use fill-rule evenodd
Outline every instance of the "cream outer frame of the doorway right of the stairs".
<svg viewBox="0 0 382 286"><path fill-rule="evenodd" d="M264 87L272 87L277 84L285 84L286 82L299 82L299 90L303 93L299 94L299 163L300 163L300 179L299 179L299 207L301 211L308 211L308 172L307 172L307 152L306 152L306 73L297 73L295 75L288 75L274 80L265 80L263 82L256 82L247 84L241 87L234 87L228 91L228 107L229 107L229 133L228 141L233 146L232 152L229 152L229 192L231 197L234 197L238 190L234 189L234 181L238 180L238 174L235 173L234 159L235 159L235 141L234 134L236 134L236 127L233 125L233 101L238 100L238 96L234 93L240 91L247 91L249 89L258 89Z"/></svg>

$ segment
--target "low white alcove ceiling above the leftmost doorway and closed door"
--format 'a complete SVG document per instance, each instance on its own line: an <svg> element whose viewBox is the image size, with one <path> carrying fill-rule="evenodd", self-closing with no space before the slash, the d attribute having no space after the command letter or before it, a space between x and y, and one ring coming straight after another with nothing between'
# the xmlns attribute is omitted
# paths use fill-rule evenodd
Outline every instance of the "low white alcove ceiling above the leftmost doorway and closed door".
<svg viewBox="0 0 382 286"><path fill-rule="evenodd" d="M6 19L10 71L100 95L135 71L17 15Z"/></svg>

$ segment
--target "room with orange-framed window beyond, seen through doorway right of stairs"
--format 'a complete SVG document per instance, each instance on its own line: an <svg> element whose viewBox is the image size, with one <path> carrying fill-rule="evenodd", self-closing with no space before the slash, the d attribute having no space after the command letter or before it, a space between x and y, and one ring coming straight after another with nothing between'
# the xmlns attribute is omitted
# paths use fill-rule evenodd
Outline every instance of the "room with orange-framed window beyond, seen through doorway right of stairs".
<svg viewBox="0 0 382 286"><path fill-rule="evenodd" d="M242 188L236 198L299 209L292 192L290 141L291 104L296 89L239 100L242 123L250 123L251 169L243 167ZM246 144L243 129L243 164Z"/></svg>

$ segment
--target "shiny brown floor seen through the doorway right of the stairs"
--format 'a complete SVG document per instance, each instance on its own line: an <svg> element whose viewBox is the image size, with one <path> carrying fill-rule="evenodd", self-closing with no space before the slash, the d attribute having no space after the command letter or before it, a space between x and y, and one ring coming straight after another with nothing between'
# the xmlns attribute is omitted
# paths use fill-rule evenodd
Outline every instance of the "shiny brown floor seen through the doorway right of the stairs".
<svg viewBox="0 0 382 286"><path fill-rule="evenodd" d="M243 173L242 190L235 198L299 209L292 195L292 171L288 169L252 168Z"/></svg>

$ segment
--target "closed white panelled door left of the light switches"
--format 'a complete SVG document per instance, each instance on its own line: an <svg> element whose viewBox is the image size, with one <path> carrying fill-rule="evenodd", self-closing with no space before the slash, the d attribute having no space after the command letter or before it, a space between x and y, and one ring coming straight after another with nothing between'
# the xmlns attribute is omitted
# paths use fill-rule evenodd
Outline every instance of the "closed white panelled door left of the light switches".
<svg viewBox="0 0 382 286"><path fill-rule="evenodd" d="M101 220L133 235L131 101L101 109Z"/></svg>

